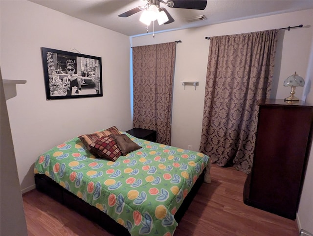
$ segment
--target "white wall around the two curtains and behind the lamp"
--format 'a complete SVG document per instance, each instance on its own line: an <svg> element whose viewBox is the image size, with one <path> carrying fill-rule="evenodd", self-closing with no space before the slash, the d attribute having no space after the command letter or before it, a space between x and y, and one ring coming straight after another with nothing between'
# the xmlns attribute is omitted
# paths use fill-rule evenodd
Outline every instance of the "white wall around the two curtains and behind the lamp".
<svg viewBox="0 0 313 236"><path fill-rule="evenodd" d="M201 139L204 89L207 70L209 41L206 36L220 36L274 28L283 28L303 24L304 27L279 32L275 72L271 98L283 99L290 95L290 88L283 86L283 81L294 71L303 77L308 69L308 59L313 38L313 9L291 12L224 24L209 25L200 28L177 30L132 38L132 46L159 44L181 40L177 46L174 77L172 145L187 148L192 145L198 150ZM312 65L310 65L312 67ZM186 86L180 81L196 80L199 87ZM301 98L303 88L296 88L296 95ZM313 95L308 101L313 104ZM298 212L298 222L303 229L313 233L313 193L309 181L313 176L313 154L307 168L307 179L302 192Z"/></svg>

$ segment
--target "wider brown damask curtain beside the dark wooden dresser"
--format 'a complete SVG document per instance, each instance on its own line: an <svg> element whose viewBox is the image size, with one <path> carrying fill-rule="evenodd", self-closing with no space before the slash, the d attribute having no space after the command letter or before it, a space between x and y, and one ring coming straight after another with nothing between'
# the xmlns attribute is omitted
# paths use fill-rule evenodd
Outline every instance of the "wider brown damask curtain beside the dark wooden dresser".
<svg viewBox="0 0 313 236"><path fill-rule="evenodd" d="M258 120L268 98L278 30L210 38L200 151L249 173Z"/></svg>

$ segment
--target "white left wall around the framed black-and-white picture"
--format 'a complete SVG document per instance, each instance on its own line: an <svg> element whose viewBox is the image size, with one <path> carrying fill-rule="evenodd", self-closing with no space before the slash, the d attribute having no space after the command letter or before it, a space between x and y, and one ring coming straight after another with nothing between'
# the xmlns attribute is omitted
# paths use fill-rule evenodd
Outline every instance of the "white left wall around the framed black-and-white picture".
<svg viewBox="0 0 313 236"><path fill-rule="evenodd" d="M129 37L30 1L0 1L3 79L27 80L7 100L22 191L34 188L33 164L75 136L132 128ZM103 97L46 100L41 47L76 48L102 58ZM73 52L76 52L75 50Z"/></svg>

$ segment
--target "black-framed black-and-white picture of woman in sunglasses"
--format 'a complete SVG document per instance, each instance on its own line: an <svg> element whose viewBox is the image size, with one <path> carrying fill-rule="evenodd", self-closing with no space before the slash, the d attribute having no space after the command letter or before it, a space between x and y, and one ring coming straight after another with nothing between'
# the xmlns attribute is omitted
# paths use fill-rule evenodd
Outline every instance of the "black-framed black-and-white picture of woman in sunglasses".
<svg viewBox="0 0 313 236"><path fill-rule="evenodd" d="M46 99L103 96L101 57L42 47Z"/></svg>

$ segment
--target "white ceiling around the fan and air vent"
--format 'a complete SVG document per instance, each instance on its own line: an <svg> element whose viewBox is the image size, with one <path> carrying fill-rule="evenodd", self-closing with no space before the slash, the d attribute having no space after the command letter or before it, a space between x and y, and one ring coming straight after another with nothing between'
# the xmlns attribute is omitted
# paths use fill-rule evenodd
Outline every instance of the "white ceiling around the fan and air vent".
<svg viewBox="0 0 313 236"><path fill-rule="evenodd" d="M96 24L116 32L136 36L146 33L146 26L139 22L140 12L127 18L119 14L137 6L144 6L145 0L30 0L45 7L63 12L72 17ZM166 0L164 0L166 1ZM255 17L268 16L313 8L313 0L208 0L204 10L164 7L174 18L171 24L155 24L155 32L199 27ZM206 20L187 23L186 19L205 15ZM301 22L299 22L301 24ZM153 24L148 27L153 31ZM294 25L282 25L294 26Z"/></svg>

